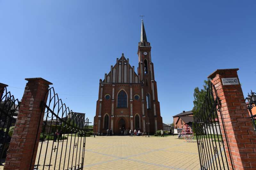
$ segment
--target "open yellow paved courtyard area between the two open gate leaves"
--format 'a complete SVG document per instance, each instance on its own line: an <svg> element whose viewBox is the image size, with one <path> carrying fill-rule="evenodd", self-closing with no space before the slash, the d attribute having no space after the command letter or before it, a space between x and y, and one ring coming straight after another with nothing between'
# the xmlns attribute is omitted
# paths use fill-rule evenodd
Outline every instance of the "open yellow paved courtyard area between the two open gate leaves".
<svg viewBox="0 0 256 170"><path fill-rule="evenodd" d="M85 169L200 169L196 142L168 137L86 138Z"/></svg>

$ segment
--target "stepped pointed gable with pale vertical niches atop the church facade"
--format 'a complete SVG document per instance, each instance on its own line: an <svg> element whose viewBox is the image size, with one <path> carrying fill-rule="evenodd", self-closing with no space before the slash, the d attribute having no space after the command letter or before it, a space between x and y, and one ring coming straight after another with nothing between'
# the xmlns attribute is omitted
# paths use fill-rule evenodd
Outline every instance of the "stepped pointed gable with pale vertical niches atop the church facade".
<svg viewBox="0 0 256 170"><path fill-rule="evenodd" d="M111 66L108 74L105 74L103 83L141 83L139 76L134 71L134 66L129 64L129 59L122 57L116 59L115 66Z"/></svg>

